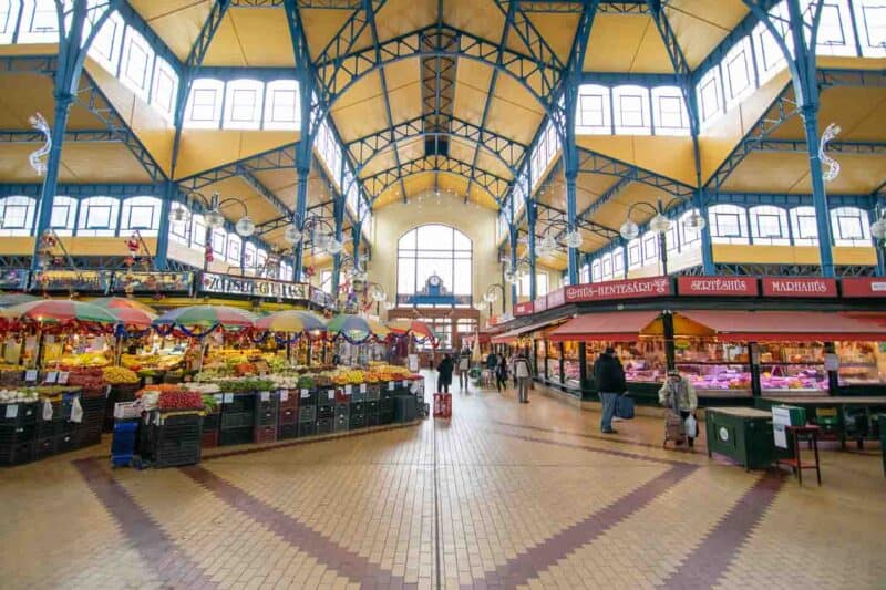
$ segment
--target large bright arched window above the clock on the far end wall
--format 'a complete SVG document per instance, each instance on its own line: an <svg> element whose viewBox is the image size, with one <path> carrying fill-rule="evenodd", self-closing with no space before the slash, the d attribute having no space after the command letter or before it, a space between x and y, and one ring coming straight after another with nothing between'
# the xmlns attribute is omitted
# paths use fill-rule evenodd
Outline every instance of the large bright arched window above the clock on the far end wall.
<svg viewBox="0 0 886 590"><path fill-rule="evenodd" d="M398 294L415 294L437 276L447 293L471 296L472 252L471 239L449 226L431 224L406 231L398 242Z"/></svg>

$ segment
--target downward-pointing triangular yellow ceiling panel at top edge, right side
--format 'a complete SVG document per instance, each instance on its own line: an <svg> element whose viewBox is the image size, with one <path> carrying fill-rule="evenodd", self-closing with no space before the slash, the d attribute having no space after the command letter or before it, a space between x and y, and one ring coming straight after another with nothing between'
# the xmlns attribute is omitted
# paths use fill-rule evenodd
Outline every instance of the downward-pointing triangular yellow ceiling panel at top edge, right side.
<svg viewBox="0 0 886 590"><path fill-rule="evenodd" d="M671 0L664 14L694 69L748 14L741 0Z"/></svg>

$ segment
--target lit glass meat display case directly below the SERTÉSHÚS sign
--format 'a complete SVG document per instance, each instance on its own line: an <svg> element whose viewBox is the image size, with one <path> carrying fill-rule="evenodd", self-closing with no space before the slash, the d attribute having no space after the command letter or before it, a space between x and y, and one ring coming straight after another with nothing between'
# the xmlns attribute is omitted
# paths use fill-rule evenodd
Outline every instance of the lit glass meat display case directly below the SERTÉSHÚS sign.
<svg viewBox="0 0 886 590"><path fill-rule="evenodd" d="M677 369L692 383L699 395L751 396L748 346L700 339L678 339L674 345Z"/></svg>

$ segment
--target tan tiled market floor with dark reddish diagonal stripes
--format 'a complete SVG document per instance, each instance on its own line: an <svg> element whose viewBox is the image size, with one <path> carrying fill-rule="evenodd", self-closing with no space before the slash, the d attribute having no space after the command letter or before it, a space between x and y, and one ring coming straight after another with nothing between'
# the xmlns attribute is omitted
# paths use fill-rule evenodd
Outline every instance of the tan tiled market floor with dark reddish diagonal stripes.
<svg viewBox="0 0 886 590"><path fill-rule="evenodd" d="M824 486L661 448L659 420L455 393L452 421L195 467L0 472L3 588L886 588L878 449Z"/></svg>

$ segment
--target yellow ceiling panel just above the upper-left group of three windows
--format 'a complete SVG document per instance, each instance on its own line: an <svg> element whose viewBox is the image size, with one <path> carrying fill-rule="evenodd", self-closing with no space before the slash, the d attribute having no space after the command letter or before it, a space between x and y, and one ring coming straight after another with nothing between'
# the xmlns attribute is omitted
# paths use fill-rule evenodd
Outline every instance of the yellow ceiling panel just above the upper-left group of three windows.
<svg viewBox="0 0 886 590"><path fill-rule="evenodd" d="M284 9L229 10L226 20L231 21L237 31L247 65L295 65L292 40Z"/></svg>

